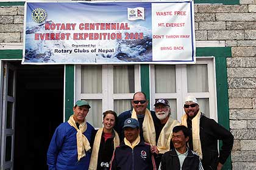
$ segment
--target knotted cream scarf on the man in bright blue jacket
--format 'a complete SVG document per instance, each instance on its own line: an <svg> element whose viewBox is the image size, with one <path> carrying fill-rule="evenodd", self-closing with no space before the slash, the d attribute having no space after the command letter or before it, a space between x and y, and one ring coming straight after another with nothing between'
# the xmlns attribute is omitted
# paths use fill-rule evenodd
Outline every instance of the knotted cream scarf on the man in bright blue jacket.
<svg viewBox="0 0 256 170"><path fill-rule="evenodd" d="M91 149L90 143L83 134L87 130L87 123L86 119L83 123L79 124L79 129L76 126L76 121L74 120L73 115L69 117L68 123L70 126L73 126L77 133L76 133L76 143L77 143L77 159L80 160L80 158L85 157L85 151L89 151Z"/></svg>

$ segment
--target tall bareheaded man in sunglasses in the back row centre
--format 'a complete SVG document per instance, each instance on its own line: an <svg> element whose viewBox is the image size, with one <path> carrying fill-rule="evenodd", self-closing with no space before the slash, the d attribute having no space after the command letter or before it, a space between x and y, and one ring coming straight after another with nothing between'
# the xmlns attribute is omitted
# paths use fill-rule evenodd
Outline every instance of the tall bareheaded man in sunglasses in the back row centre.
<svg viewBox="0 0 256 170"><path fill-rule="evenodd" d="M127 110L118 116L118 121L114 129L118 132L120 141L124 140L123 126L124 120L127 118L135 118L140 123L140 138L148 143L155 141L155 123L159 123L159 120L155 116L154 111L147 109L149 101L146 98L146 94L143 92L137 92L133 95L132 110Z"/></svg>

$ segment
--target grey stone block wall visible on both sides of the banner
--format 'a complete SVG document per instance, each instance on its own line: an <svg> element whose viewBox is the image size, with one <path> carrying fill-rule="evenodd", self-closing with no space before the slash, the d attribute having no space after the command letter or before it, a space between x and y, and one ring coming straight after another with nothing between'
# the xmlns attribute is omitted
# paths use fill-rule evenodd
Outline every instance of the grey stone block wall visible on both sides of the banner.
<svg viewBox="0 0 256 170"><path fill-rule="evenodd" d="M227 58L232 169L256 169L256 0L195 4L194 12L197 41L232 47ZM23 42L23 15L23 6L0 7L0 43Z"/></svg>

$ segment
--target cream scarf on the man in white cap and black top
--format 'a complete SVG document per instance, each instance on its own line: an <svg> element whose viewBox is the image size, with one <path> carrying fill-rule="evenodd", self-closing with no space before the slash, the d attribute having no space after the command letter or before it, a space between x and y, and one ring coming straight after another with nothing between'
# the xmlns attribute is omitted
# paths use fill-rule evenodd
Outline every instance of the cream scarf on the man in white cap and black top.
<svg viewBox="0 0 256 170"><path fill-rule="evenodd" d="M192 138L193 138L193 150L196 152L199 157L202 159L202 148L201 148L201 141L200 141L200 117L201 112L198 110L196 116L192 119ZM182 116L182 125L188 127L187 124L187 114Z"/></svg>

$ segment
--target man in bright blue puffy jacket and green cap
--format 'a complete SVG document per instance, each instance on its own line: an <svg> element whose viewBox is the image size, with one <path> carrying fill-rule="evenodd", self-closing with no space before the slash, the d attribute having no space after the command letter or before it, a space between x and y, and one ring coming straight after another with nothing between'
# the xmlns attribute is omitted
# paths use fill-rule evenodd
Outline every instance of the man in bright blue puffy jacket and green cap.
<svg viewBox="0 0 256 170"><path fill-rule="evenodd" d="M52 136L47 152L49 170L85 170L90 163L90 140L94 127L85 119L90 105L78 100L68 122L60 124Z"/></svg>

